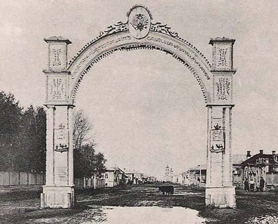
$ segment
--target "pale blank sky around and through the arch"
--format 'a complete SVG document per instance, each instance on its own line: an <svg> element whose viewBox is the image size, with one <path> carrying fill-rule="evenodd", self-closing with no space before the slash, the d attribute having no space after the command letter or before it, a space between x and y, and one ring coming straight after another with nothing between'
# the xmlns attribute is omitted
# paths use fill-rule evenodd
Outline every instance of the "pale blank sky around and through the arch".
<svg viewBox="0 0 278 224"><path fill-rule="evenodd" d="M71 58L135 4L211 61L210 37L235 38L233 150L277 150L276 1L1 1L0 89L27 107L44 103L43 38L64 36ZM116 52L83 79L76 102L94 125L108 165L162 176L205 162L206 108L193 75L160 51Z"/></svg>

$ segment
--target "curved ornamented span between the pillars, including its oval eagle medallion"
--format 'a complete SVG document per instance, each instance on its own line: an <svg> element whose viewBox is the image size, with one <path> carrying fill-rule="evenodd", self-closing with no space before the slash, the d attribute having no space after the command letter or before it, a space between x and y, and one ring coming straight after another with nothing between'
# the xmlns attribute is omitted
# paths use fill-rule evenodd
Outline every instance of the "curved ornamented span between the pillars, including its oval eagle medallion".
<svg viewBox="0 0 278 224"><path fill-rule="evenodd" d="M204 55L191 43L179 37L178 33L172 31L170 26L166 24L162 25L160 22L151 23L152 16L147 8L136 5L129 10L127 16L127 23L118 22L117 24L109 26L105 31L100 32L98 37L85 44L70 61L68 70L71 71L71 78L75 80L73 89L71 90L72 101L75 101L76 93L83 76L94 64L117 50L131 49L159 49L172 54L175 59L184 64L193 73L201 86L205 102L207 103L207 101L210 101L208 100L208 90L198 74L200 73L199 70L201 70L205 78L207 80L210 79L209 74L212 66ZM131 35L126 31L130 31ZM150 31L152 31L152 33L150 33ZM116 33L117 35L114 35ZM156 33L165 34L175 39L172 40L167 36L158 35ZM107 37L109 34L113 35ZM123 37L126 34L127 36ZM103 37L106 38L101 40ZM137 43L132 40L133 37L137 39L146 39L144 42ZM121 43L119 43L119 41L121 41ZM188 60L188 58L190 60Z"/></svg>

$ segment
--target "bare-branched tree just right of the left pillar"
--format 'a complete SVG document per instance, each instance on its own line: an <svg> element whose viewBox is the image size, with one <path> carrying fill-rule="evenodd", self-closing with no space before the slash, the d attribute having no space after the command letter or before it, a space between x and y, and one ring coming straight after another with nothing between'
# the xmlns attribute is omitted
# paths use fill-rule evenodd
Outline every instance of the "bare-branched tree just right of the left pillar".
<svg viewBox="0 0 278 224"><path fill-rule="evenodd" d="M78 110L74 113L73 127L73 144L76 149L81 149L81 145L89 140L95 145L94 137L89 136L92 125L83 110Z"/></svg>

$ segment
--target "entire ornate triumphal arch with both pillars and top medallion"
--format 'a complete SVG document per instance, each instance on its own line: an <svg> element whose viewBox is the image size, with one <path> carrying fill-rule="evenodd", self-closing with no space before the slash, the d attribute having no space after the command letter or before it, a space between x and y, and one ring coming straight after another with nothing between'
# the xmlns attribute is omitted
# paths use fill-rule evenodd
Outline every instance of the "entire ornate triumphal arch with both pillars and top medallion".
<svg viewBox="0 0 278 224"><path fill-rule="evenodd" d="M74 206L73 108L83 76L117 50L151 49L172 55L195 77L207 110L206 205L236 207L232 185L232 109L234 39L211 38L212 63L168 25L153 22L150 11L134 6L127 22L118 22L86 43L68 61L63 37L44 39L48 44L45 75L47 108L46 184L41 207Z"/></svg>

